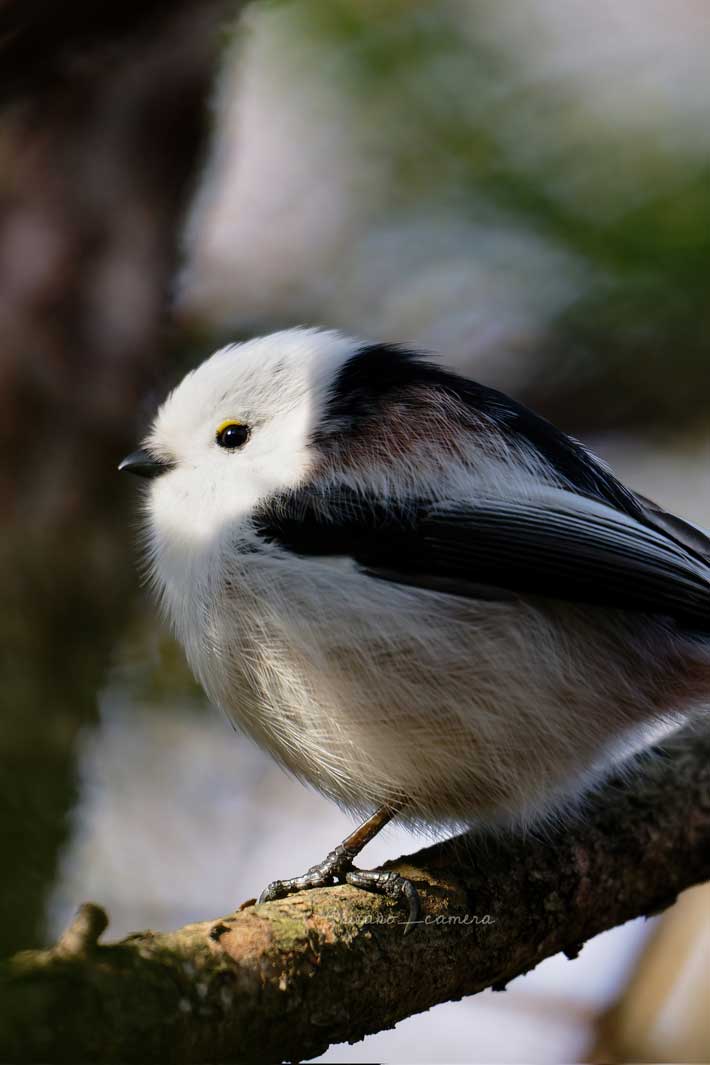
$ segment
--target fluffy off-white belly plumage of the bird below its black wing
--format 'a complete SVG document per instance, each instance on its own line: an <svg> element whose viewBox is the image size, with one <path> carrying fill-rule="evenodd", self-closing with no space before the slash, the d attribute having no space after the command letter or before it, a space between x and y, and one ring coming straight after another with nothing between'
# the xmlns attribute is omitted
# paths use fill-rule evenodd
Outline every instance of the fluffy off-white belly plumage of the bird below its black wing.
<svg viewBox="0 0 710 1065"><path fill-rule="evenodd" d="M278 551L210 571L218 584L166 596L198 679L359 812L406 800L427 824L548 816L707 687L707 652L638 615L468 600Z"/></svg>

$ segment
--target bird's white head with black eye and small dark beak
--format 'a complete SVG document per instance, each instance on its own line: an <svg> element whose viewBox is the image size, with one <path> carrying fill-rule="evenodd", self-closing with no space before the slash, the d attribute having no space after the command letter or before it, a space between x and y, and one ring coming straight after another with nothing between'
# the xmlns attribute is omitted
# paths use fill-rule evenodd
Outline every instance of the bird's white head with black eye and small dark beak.
<svg viewBox="0 0 710 1065"><path fill-rule="evenodd" d="M149 478L148 547L161 585L245 528L255 508L308 479L343 366L361 341L290 329L216 351L168 395L121 469Z"/></svg>

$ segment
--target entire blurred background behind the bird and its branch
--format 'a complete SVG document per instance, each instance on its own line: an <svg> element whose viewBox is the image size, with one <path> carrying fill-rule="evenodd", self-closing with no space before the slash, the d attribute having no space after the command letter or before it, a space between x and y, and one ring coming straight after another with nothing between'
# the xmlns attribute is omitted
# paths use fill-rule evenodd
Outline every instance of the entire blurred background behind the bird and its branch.
<svg viewBox="0 0 710 1065"><path fill-rule="evenodd" d="M141 586L116 464L218 344L441 351L710 525L704 0L66 7L0 3L0 953L87 898L114 936L228 913L350 826L205 705ZM709 915L323 1060L707 1062Z"/></svg>

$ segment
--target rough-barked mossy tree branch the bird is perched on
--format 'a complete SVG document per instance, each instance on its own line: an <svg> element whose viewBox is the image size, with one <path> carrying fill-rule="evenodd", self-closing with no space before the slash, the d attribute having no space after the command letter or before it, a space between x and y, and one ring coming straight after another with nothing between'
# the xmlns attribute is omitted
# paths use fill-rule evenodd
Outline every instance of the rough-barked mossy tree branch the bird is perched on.
<svg viewBox="0 0 710 1065"><path fill-rule="evenodd" d="M86 904L54 948L5 964L0 1060L302 1060L575 956L710 875L710 736L686 733L544 839L459 837L392 867L422 894L407 937L396 904L345 885L106 946Z"/></svg>

